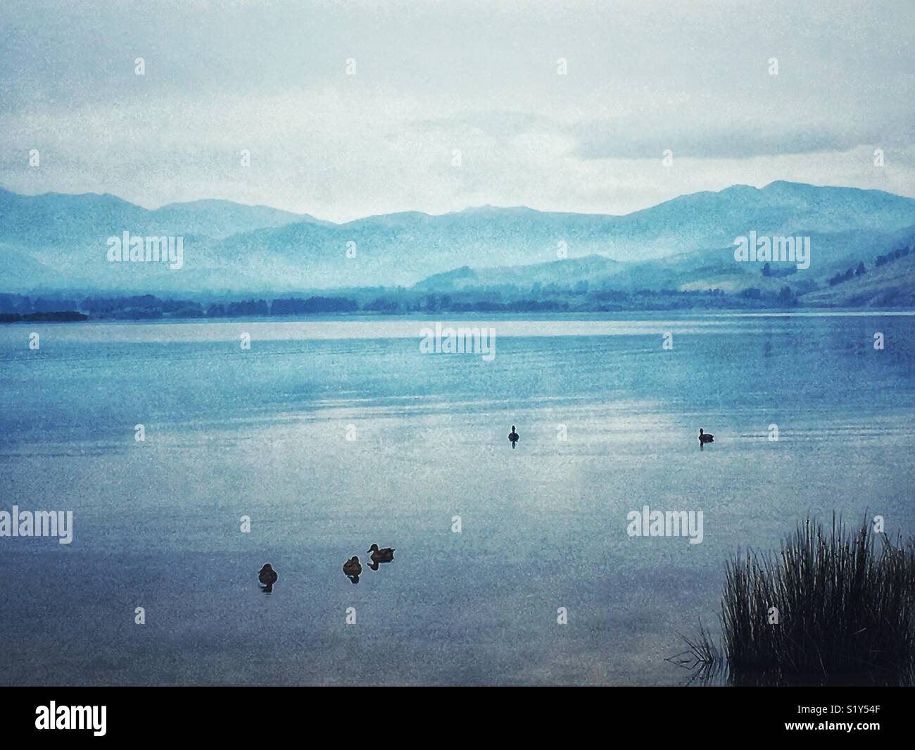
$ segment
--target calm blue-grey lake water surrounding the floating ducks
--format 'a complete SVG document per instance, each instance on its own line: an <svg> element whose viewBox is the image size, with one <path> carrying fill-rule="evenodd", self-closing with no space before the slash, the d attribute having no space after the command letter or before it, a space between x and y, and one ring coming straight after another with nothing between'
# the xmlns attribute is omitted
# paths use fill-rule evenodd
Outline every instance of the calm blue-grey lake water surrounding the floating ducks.
<svg viewBox="0 0 915 750"><path fill-rule="evenodd" d="M915 532L913 317L496 320L491 362L433 322L0 328L0 509L75 516L0 538L0 682L681 684L738 548ZM630 538L643 505L704 541Z"/></svg>

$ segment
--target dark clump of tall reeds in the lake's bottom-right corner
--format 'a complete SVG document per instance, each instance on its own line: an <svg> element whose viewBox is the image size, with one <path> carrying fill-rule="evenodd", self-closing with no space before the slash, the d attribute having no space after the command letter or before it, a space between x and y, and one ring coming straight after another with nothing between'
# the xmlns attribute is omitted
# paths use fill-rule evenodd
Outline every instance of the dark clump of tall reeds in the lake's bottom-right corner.
<svg viewBox="0 0 915 750"><path fill-rule="evenodd" d="M879 541L876 537L879 537ZM915 548L865 522L808 519L778 554L727 563L723 651L732 679L749 673L910 674L915 653Z"/></svg>

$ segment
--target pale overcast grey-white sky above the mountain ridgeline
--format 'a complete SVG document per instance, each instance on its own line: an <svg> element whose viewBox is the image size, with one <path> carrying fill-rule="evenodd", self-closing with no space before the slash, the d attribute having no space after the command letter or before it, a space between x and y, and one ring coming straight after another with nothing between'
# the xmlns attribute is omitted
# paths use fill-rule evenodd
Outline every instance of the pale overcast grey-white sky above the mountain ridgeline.
<svg viewBox="0 0 915 750"><path fill-rule="evenodd" d="M0 186L27 194L331 221L776 179L915 197L913 136L915 0L0 5Z"/></svg>

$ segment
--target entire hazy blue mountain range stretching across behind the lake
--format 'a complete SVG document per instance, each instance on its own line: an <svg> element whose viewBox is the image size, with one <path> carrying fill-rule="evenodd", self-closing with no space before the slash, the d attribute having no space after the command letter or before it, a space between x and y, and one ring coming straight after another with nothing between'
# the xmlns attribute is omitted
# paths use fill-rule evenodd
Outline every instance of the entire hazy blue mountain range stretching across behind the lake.
<svg viewBox="0 0 915 750"><path fill-rule="evenodd" d="M125 231L182 236L184 266L110 263L107 239ZM750 231L810 236L810 268L762 276L759 264L735 262L734 240ZM577 287L740 293L788 285L828 301L838 299L826 293L828 279L848 264L869 267L877 255L910 247L913 240L915 200L784 181L697 192L621 216L484 206L349 223L231 201L147 210L107 194L0 190L0 291L174 295ZM899 285L905 277L897 266L887 283ZM870 277L868 286L879 287L878 279Z"/></svg>

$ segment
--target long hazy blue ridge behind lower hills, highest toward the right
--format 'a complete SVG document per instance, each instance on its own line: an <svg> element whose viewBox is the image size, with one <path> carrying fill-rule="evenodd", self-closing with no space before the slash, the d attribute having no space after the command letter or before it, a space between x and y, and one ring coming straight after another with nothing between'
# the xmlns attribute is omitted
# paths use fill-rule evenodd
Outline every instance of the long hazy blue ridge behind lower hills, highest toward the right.
<svg viewBox="0 0 915 750"><path fill-rule="evenodd" d="M411 285L460 266L479 271L547 262L563 248L571 259L645 261L730 246L750 230L886 232L912 223L915 201L909 198L775 182L761 190L696 193L627 216L486 206L440 216L404 212L339 225L297 223L237 234L218 252L249 266L263 262L274 278L309 287ZM345 255L348 243L355 243L354 258Z"/></svg>

